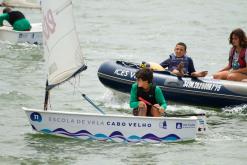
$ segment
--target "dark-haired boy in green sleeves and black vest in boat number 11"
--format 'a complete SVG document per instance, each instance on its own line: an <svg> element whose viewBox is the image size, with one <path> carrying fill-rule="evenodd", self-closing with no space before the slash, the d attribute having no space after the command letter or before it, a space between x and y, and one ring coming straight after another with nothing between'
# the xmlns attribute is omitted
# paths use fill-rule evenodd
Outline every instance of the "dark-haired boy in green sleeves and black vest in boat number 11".
<svg viewBox="0 0 247 165"><path fill-rule="evenodd" d="M135 116L160 117L167 107L160 87L155 86L153 71L142 68L136 72L137 82L132 85L130 92L130 107Z"/></svg>

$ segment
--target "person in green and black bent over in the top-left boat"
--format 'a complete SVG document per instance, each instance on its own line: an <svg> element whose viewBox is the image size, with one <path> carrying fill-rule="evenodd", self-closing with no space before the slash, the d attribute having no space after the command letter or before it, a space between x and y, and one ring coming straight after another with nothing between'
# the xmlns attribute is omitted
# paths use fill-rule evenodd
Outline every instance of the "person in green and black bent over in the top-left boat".
<svg viewBox="0 0 247 165"><path fill-rule="evenodd" d="M12 11L11 8L6 7L3 9L3 14L0 15L0 26L3 26L3 21L6 20L14 30L29 31L31 30L30 22L20 11Z"/></svg>

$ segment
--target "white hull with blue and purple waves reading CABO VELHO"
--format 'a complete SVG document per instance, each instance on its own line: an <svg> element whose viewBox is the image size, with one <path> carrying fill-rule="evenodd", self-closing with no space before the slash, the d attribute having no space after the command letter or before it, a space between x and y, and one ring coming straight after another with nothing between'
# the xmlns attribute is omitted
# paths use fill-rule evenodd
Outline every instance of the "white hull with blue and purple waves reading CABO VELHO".
<svg viewBox="0 0 247 165"><path fill-rule="evenodd" d="M134 117L23 108L35 131L58 136L116 142L194 140L197 118Z"/></svg>

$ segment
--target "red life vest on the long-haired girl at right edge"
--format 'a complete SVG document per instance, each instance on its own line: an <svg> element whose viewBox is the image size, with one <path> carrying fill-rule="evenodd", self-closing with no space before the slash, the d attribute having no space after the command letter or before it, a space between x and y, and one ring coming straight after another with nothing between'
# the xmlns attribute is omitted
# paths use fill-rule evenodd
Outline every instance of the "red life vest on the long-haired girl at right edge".
<svg viewBox="0 0 247 165"><path fill-rule="evenodd" d="M233 56L235 54L236 48L232 47L229 55L229 65L232 66L232 61L233 61ZM239 56L238 56L238 64L240 68L245 68L246 67L246 61L245 61L245 53L246 53L246 48L241 49Z"/></svg>

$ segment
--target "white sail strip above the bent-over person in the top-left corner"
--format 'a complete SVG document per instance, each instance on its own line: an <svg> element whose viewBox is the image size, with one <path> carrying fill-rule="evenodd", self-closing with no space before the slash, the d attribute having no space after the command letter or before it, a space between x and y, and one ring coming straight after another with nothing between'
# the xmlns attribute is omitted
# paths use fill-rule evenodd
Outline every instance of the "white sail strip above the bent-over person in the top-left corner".
<svg viewBox="0 0 247 165"><path fill-rule="evenodd" d="M40 9L40 0L3 0L2 2L9 7Z"/></svg>

